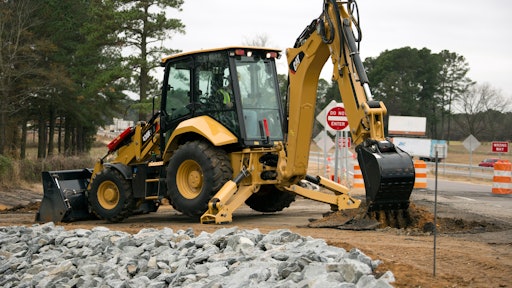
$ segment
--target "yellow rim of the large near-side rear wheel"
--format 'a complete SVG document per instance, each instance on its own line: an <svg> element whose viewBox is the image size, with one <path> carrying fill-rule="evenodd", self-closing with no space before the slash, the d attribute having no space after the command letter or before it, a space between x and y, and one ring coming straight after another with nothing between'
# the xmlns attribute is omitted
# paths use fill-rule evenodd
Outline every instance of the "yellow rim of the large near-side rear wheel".
<svg viewBox="0 0 512 288"><path fill-rule="evenodd" d="M194 160L186 160L181 163L176 175L176 186L179 193L187 198L194 199L203 189L203 170Z"/></svg>

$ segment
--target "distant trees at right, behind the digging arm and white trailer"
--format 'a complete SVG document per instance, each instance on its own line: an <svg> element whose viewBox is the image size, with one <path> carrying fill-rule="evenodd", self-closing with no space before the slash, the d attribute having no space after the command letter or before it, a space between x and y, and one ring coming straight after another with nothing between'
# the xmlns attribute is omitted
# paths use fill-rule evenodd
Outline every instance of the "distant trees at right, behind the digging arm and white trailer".
<svg viewBox="0 0 512 288"><path fill-rule="evenodd" d="M426 117L426 137L450 141L471 134L482 141L512 139L507 129L511 100L488 83L471 80L464 56L403 47L367 58L364 65L372 94L384 102L388 116ZM331 100L340 102L337 83L321 80L317 96L317 112Z"/></svg>

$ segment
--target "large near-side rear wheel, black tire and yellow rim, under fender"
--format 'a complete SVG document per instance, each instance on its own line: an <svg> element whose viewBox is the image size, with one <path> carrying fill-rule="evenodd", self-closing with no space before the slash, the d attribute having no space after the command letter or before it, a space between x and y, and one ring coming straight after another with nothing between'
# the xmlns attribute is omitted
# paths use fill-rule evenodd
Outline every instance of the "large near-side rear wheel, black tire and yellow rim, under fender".
<svg viewBox="0 0 512 288"><path fill-rule="evenodd" d="M203 141L187 142L174 152L167 166L167 189L172 206L197 217L233 177L227 153Z"/></svg>

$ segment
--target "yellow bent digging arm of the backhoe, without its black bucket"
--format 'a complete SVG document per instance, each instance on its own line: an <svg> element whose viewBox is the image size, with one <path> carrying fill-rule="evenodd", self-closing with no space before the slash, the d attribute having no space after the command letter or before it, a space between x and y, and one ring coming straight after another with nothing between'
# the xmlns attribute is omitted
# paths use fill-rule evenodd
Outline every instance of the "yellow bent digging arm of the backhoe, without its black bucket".
<svg viewBox="0 0 512 288"><path fill-rule="evenodd" d="M354 144L366 138L384 139L380 119L386 109L382 103L372 104L374 108L367 103L371 98L370 89L364 88L368 87L368 78L357 51L351 17L343 4L325 1L322 15L306 27L294 48L286 50L286 56L290 72L286 147L290 177L305 174L307 169L310 141L306 140L312 135L318 79L329 57Z"/></svg>

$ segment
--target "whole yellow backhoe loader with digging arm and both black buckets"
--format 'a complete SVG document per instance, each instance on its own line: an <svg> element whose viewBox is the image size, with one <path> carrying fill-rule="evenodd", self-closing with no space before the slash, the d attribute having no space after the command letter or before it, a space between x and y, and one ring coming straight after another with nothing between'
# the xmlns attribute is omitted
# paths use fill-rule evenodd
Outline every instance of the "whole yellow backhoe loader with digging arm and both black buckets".
<svg viewBox="0 0 512 288"><path fill-rule="evenodd" d="M244 203L281 211L296 195L335 210L358 208L361 200L349 188L307 174L316 90L329 58L368 209L406 209L414 165L384 135L386 108L370 93L356 13L355 1L326 0L320 17L286 50L285 103L275 64L280 50L237 46L163 58L160 111L114 139L93 169L43 172L36 220L118 222L156 211L164 198L202 223L231 222Z"/></svg>

